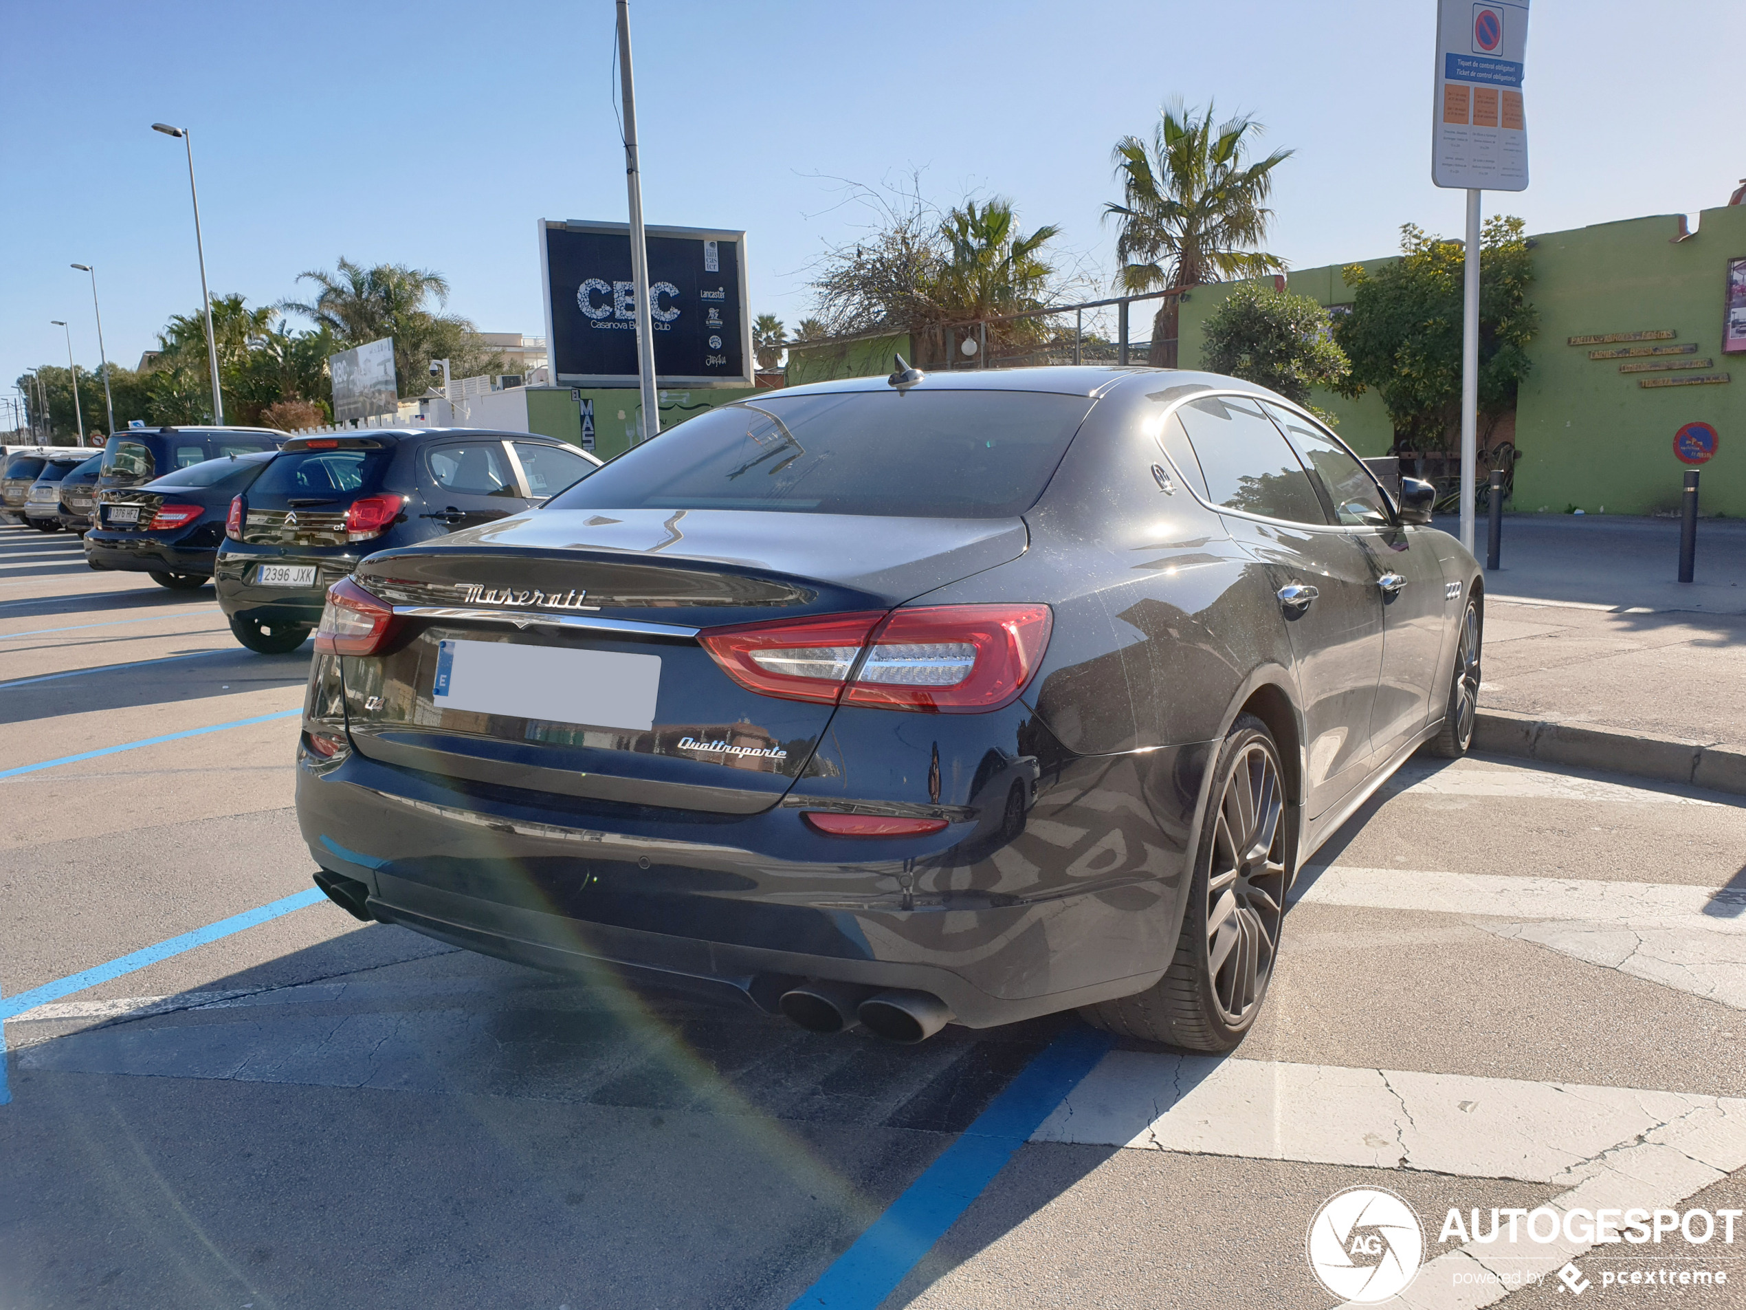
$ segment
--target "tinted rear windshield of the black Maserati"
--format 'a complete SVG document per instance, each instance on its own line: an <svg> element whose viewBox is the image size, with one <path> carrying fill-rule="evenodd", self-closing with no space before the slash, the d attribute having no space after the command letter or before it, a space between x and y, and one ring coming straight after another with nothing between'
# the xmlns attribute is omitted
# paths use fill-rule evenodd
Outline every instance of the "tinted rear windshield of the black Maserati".
<svg viewBox="0 0 1746 1310"><path fill-rule="evenodd" d="M1041 391L836 391L698 414L546 501L1004 519L1035 505L1090 412Z"/></svg>

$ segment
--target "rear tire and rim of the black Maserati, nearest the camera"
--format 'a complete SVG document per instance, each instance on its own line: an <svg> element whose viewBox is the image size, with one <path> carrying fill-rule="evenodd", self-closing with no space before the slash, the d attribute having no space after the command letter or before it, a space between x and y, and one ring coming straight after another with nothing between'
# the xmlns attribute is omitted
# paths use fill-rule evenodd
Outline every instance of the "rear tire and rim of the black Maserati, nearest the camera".
<svg viewBox="0 0 1746 1310"><path fill-rule="evenodd" d="M1079 1013L1107 1032L1165 1046L1236 1046L1273 976L1290 880L1287 830L1278 746L1261 720L1238 714L1219 751L1175 959L1147 990Z"/></svg>

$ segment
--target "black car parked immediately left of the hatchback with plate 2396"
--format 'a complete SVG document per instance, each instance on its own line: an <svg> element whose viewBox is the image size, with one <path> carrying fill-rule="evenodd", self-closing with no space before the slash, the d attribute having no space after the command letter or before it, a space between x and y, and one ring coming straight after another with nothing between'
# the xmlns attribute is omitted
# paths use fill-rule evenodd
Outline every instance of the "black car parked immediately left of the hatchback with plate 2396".
<svg viewBox="0 0 1746 1310"><path fill-rule="evenodd" d="M223 543L230 501L272 458L272 451L248 451L178 468L143 487L100 491L86 533L86 562L148 573L173 590L204 587Z"/></svg>

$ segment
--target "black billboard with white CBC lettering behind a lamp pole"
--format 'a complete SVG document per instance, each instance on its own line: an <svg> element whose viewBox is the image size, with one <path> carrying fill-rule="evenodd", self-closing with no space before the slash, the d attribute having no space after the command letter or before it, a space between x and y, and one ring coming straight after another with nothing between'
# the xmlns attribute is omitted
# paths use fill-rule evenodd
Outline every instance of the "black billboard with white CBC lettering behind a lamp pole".
<svg viewBox="0 0 1746 1310"><path fill-rule="evenodd" d="M753 386L746 232L646 227L660 386ZM629 224L540 220L552 381L637 386Z"/></svg>

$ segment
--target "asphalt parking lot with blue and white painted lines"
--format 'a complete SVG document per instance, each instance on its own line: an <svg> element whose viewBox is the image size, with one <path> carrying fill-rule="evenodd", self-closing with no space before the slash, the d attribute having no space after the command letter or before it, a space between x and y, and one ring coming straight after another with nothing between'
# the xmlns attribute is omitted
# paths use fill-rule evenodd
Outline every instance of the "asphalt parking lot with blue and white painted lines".
<svg viewBox="0 0 1746 1310"><path fill-rule="evenodd" d="M1329 1307L1304 1233L1353 1186L1423 1223L1402 1303L1563 1303L1566 1265L1582 1301L1746 1303L1746 1223L1439 1238L1746 1210L1737 798L1413 762L1299 879L1234 1057L1072 1017L901 1048L307 896L306 665L0 529L5 1310ZM1617 1286L1652 1270L1727 1282Z"/></svg>

